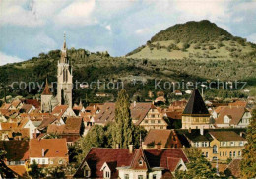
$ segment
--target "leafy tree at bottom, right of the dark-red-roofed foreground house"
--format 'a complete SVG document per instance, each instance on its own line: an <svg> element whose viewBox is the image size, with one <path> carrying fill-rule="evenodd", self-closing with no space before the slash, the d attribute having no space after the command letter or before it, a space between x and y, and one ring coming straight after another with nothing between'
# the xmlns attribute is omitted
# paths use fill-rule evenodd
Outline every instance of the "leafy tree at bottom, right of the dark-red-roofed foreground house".
<svg viewBox="0 0 256 179"><path fill-rule="evenodd" d="M218 178L215 168L202 155L199 149L190 148L185 149L185 153L189 159L186 164L187 171L177 171L175 178Z"/></svg>

